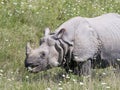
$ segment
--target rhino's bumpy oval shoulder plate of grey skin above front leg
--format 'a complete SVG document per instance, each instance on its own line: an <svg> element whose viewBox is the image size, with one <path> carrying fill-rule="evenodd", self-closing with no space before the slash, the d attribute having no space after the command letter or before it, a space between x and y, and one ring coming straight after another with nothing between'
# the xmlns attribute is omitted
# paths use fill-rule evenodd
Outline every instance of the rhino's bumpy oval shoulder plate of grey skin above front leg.
<svg viewBox="0 0 120 90"><path fill-rule="evenodd" d="M89 23L80 24L74 36L73 54L75 61L81 62L94 58L98 52L99 39L96 31Z"/></svg>

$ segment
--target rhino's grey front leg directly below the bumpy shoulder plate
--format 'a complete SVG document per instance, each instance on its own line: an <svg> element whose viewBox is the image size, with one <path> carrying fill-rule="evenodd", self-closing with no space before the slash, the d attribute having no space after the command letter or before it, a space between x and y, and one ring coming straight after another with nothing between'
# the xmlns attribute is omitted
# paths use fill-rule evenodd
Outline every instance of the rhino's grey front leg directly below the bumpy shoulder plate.
<svg viewBox="0 0 120 90"><path fill-rule="evenodd" d="M79 75L88 76L91 75L91 60L88 59L78 64Z"/></svg>

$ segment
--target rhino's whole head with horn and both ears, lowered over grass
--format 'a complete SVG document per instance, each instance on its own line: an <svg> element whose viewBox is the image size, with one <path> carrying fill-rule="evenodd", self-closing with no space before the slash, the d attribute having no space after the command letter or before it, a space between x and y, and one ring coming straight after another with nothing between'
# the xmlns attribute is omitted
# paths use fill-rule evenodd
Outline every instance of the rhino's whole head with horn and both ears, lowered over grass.
<svg viewBox="0 0 120 90"><path fill-rule="evenodd" d="M26 46L25 67L30 72L39 72L47 70L51 67L59 66L59 52L55 48L55 38L61 38L64 30L60 30L57 34L50 34L50 30L45 29L44 37L40 40L40 46L32 49L30 43Z"/></svg>

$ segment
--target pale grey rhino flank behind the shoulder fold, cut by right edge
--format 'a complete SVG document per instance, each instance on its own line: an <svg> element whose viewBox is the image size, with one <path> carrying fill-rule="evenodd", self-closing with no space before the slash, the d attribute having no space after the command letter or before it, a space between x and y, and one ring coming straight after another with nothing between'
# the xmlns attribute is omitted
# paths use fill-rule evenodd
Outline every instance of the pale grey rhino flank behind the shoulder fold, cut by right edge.
<svg viewBox="0 0 120 90"><path fill-rule="evenodd" d="M102 58L120 58L120 15L110 13L96 18L87 18L87 21L102 41Z"/></svg>

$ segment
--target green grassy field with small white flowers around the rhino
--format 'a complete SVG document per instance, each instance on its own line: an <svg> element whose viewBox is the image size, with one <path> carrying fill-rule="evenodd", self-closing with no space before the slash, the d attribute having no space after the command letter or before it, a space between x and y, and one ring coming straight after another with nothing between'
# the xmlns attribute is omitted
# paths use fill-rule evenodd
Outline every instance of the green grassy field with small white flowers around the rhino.
<svg viewBox="0 0 120 90"><path fill-rule="evenodd" d="M120 14L120 0L0 0L0 90L120 90L112 67L95 69L92 77L24 67L26 43L38 47L46 27L54 31L69 18L109 12Z"/></svg>

